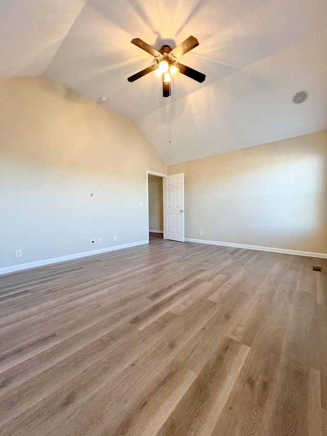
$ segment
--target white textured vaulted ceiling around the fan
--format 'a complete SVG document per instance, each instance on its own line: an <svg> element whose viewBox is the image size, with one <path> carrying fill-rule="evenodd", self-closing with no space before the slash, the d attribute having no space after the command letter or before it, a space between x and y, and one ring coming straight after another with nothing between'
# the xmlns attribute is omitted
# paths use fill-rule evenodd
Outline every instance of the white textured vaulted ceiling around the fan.
<svg viewBox="0 0 327 436"><path fill-rule="evenodd" d="M0 4L0 77L44 75L136 120L167 164L327 128L324 0L11 0ZM156 49L194 35L162 97ZM293 94L308 89L301 105ZM171 138L169 143L169 124Z"/></svg>

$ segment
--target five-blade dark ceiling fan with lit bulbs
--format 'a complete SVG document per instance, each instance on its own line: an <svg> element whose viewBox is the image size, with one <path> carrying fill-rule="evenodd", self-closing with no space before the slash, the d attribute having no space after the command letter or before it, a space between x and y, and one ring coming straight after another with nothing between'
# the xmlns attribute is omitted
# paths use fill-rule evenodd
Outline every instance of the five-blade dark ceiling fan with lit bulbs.
<svg viewBox="0 0 327 436"><path fill-rule="evenodd" d="M193 68L177 62L177 58L183 56L185 53L188 53L199 45L199 41L194 36L186 38L185 41L177 45L175 49L172 49L169 45L162 45L161 49L158 51L139 38L132 39L131 43L154 56L156 58L156 63L136 74L133 74L133 76L130 76L127 79L129 82L134 82L140 77L154 71L159 78L162 77L163 96L169 97L171 94L170 83L172 77L175 77L178 72L196 80L197 82L202 83L204 81L205 74L199 73L198 71L193 70Z"/></svg>

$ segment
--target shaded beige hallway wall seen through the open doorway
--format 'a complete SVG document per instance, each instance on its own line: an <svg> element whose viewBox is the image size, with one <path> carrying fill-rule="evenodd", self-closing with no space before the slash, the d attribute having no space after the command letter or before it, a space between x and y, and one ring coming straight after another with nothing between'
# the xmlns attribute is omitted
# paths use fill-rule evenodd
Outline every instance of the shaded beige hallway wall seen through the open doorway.
<svg viewBox="0 0 327 436"><path fill-rule="evenodd" d="M151 227L153 224L153 227ZM149 230L164 231L162 177L149 175Z"/></svg>

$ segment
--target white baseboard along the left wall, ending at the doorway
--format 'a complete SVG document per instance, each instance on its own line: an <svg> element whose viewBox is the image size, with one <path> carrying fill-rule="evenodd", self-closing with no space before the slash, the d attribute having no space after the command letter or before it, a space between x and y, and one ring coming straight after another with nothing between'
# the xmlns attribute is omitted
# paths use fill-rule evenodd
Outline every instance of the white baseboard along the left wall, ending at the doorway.
<svg viewBox="0 0 327 436"><path fill-rule="evenodd" d="M37 266L50 265L52 263L64 262L66 260L73 260L73 259L79 259L79 258L83 258L83 257L87 257L87 256L100 255L102 253L108 253L109 251L121 250L122 248L135 247L136 245L143 245L143 244L148 244L148 243L149 243L149 241L132 242L131 244L123 244L123 245L116 245L115 247L100 248L98 250L85 251L84 253L77 253L74 255L62 256L59 258L38 260L36 262L23 263L21 265L7 266L5 268L0 268L0 275L7 274L8 272L15 272L15 271L21 271L23 269L35 268Z"/></svg>

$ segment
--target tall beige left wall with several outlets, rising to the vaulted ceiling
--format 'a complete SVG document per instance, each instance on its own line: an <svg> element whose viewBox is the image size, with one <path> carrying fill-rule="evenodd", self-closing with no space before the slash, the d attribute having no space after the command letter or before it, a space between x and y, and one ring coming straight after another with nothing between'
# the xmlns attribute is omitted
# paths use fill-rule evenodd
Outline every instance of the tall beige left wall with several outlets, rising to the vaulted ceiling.
<svg viewBox="0 0 327 436"><path fill-rule="evenodd" d="M44 77L0 96L0 267L147 240L146 171L167 167L134 122Z"/></svg>

